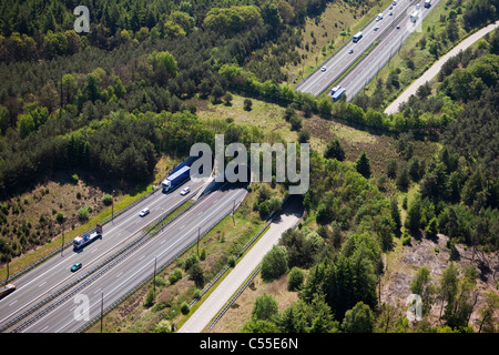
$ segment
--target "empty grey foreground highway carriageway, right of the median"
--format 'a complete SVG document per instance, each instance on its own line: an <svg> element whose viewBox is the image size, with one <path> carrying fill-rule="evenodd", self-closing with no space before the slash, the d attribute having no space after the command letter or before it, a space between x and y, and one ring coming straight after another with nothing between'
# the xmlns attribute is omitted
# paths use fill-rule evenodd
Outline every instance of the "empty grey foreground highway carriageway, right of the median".
<svg viewBox="0 0 499 355"><path fill-rule="evenodd" d="M245 184L225 184L196 203L187 213L170 223L162 232L136 248L96 280L79 290L77 294L61 301L51 312L35 322L29 322L18 331L28 333L70 333L78 331L84 320L78 313L81 297L89 300L89 316L99 316L104 308L119 301L126 292L151 276L154 264L169 263L194 243L198 233L203 234L218 220L228 215L234 205L246 196ZM101 304L103 301L103 304Z"/></svg>

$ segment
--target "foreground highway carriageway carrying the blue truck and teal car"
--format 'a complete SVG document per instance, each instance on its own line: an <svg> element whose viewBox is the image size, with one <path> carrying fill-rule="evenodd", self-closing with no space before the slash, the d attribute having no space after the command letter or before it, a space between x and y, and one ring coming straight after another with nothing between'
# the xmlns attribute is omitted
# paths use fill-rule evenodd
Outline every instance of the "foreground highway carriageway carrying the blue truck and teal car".
<svg viewBox="0 0 499 355"><path fill-rule="evenodd" d="M103 225L102 239L98 239L80 252L68 247L62 255L57 254L11 281L17 290L0 301L0 327L82 276L133 240L139 239L155 220L194 196L202 182L190 181L184 185L191 187L190 194L182 196L180 194L182 187L167 194L162 193L161 190L156 191L130 210L115 216L113 222ZM149 207L151 213L141 217L139 213L144 207ZM77 262L81 262L83 266L72 273L71 265Z"/></svg>

